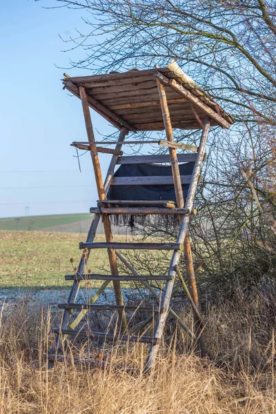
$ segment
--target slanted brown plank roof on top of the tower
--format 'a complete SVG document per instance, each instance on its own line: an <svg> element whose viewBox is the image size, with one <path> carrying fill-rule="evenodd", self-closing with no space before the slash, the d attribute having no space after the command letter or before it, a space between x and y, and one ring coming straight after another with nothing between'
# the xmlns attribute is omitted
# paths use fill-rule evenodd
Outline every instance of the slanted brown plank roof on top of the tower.
<svg viewBox="0 0 276 414"><path fill-rule="evenodd" d="M164 83L172 128L199 129L206 114L211 125L229 128L233 118L204 90L183 83L168 68L130 70L124 73L66 77L64 88L79 97L79 86L86 88L91 108L121 129L164 130L156 77ZM196 115L196 113L197 115Z"/></svg>

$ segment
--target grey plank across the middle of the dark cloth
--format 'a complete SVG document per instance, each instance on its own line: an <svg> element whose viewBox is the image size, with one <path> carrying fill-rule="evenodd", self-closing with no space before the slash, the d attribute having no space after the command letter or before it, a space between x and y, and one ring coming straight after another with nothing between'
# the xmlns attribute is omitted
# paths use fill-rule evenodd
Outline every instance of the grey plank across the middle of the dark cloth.
<svg viewBox="0 0 276 414"><path fill-rule="evenodd" d="M190 184L191 175L180 175L181 184ZM152 175L139 177L113 177L111 186L172 186L170 175Z"/></svg>

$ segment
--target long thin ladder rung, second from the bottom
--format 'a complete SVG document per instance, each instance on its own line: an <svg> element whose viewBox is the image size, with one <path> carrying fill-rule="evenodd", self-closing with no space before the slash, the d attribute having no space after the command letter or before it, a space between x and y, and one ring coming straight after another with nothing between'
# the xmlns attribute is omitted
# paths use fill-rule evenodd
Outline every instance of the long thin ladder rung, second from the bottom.
<svg viewBox="0 0 276 414"><path fill-rule="evenodd" d="M130 341L130 342L148 342L149 344L157 344L156 337L138 337L138 336L129 336L129 335L116 335L114 333L105 333L105 332L90 332L86 333L83 331L70 330L70 329L57 329L52 330L55 333L61 333L62 335L74 335L81 338L102 338L102 339L111 339L111 340L121 340L121 341Z"/></svg>

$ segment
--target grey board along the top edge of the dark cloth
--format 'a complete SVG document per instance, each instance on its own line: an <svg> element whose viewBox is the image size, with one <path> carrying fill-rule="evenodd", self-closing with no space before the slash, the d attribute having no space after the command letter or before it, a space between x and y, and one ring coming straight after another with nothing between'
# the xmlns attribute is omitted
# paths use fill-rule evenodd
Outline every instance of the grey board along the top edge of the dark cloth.
<svg viewBox="0 0 276 414"><path fill-rule="evenodd" d="M195 162L197 154L177 154L178 162ZM170 163L170 155L133 155L119 157L117 164L164 164Z"/></svg>

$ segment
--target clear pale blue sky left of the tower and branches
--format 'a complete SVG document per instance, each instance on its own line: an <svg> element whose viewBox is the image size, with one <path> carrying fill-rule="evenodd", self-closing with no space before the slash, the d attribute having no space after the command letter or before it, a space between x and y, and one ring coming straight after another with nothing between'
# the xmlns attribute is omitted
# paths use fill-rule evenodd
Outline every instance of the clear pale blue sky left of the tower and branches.
<svg viewBox="0 0 276 414"><path fill-rule="evenodd" d="M85 213L95 205L97 190L90 155L80 158L70 143L86 141L81 103L62 90L63 70L83 52L61 52L59 39L84 26L83 10L46 10L48 1L5 1L0 17L0 217L26 214ZM55 65L61 67L57 68ZM114 130L92 112L97 130ZM108 155L101 155L103 174Z"/></svg>

